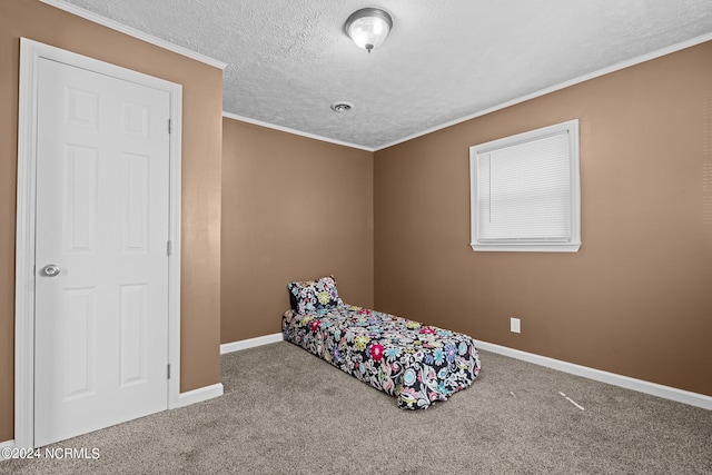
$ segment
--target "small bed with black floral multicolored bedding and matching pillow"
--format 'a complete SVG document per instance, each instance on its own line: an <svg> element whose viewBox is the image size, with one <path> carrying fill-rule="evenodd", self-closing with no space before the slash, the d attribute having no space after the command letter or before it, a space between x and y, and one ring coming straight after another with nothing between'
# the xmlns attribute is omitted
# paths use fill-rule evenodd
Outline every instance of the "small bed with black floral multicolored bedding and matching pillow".
<svg viewBox="0 0 712 475"><path fill-rule="evenodd" d="M291 308L283 316L290 342L357 379L425 409L467 388L481 369L464 334L345 304L333 276L287 285Z"/></svg>

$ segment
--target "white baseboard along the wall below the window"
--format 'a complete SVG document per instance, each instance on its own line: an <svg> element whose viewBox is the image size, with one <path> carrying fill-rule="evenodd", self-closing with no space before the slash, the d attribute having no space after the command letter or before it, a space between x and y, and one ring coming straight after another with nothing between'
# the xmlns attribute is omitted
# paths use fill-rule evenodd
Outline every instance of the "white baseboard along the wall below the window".
<svg viewBox="0 0 712 475"><path fill-rule="evenodd" d="M535 365L546 366L560 372L570 373L576 376L583 376L602 383L612 384L614 386L624 387L626 389L637 390L640 393L650 394L652 396L663 397L665 399L676 400L678 403L689 404L691 406L702 407L712 410L712 397L704 394L692 393L689 390L678 389L675 387L663 386L656 383L650 383L643 379L635 379L627 376L616 375L615 373L602 372L600 369L590 368L587 366L575 365L573 363L562 362L546 356L526 353L506 346L495 345L493 343L475 340L477 348L486 352L497 353L511 358L522 359L524 362L534 363Z"/></svg>

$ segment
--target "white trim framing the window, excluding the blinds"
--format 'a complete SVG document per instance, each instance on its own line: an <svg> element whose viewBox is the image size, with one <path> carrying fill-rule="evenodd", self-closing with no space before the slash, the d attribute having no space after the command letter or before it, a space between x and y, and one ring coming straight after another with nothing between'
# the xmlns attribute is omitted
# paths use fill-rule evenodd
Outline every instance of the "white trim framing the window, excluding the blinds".
<svg viewBox="0 0 712 475"><path fill-rule="evenodd" d="M544 137L561 133L568 133L570 164L571 164L571 234L565 241L545 240L503 240L483 241L478 237L478 155L493 150L511 147L542 139ZM578 149L578 120L557 123L550 127L518 133L511 137L493 140L469 148L469 209L471 209L471 244L475 251L530 251L530 253L577 253L581 248L581 175L580 175L580 149Z"/></svg>

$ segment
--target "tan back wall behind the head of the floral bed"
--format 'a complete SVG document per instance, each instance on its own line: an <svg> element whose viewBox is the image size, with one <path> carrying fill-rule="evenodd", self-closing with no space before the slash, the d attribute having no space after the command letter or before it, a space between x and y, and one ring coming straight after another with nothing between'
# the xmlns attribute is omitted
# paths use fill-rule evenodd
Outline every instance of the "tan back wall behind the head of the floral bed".
<svg viewBox="0 0 712 475"><path fill-rule="evenodd" d="M373 154L224 120L222 343L281 331L287 283L373 306Z"/></svg>

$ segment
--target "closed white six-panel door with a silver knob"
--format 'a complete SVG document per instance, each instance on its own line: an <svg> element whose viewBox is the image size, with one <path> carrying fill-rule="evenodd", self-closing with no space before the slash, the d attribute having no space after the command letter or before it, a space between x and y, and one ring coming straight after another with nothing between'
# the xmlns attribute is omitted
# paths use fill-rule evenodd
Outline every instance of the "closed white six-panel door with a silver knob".
<svg viewBox="0 0 712 475"><path fill-rule="evenodd" d="M168 407L170 97L40 59L34 444Z"/></svg>

